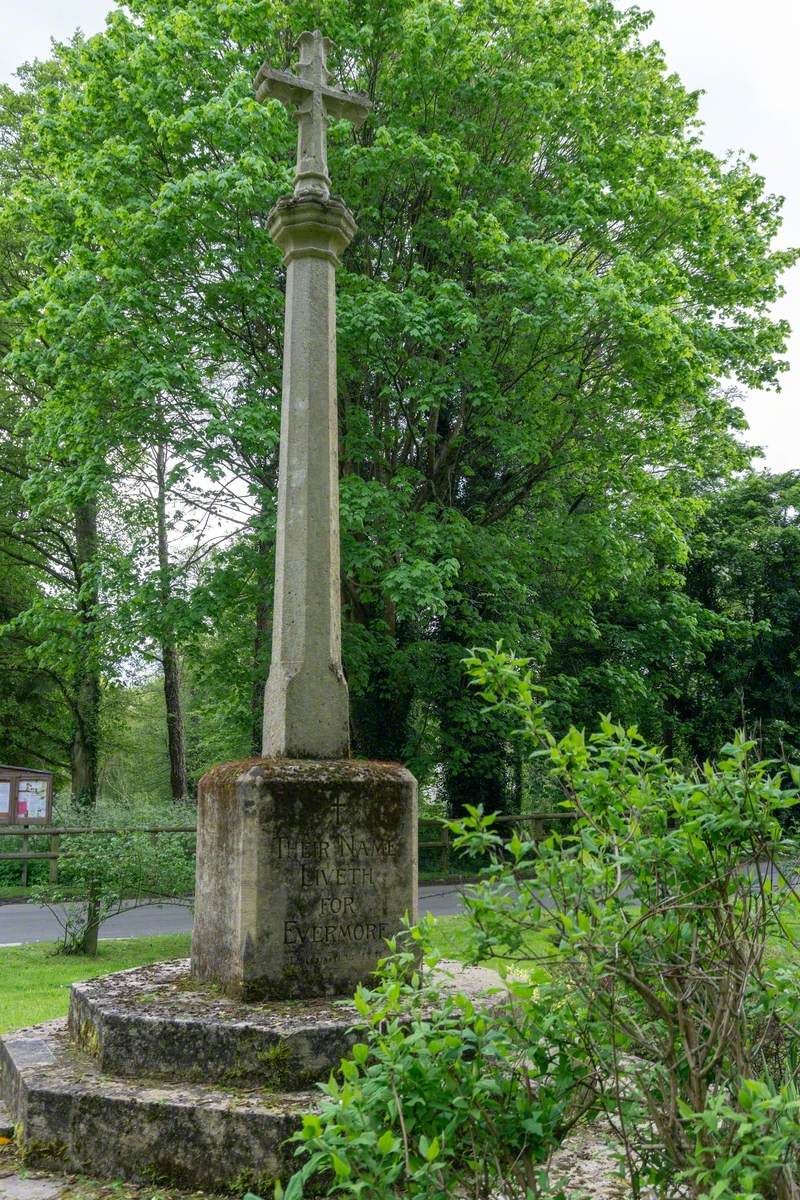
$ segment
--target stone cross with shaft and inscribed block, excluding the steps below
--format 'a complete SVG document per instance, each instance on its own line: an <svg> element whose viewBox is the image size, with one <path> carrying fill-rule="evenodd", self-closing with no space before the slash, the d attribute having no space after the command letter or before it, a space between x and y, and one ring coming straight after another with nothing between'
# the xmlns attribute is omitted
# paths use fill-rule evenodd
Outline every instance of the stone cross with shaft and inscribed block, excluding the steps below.
<svg viewBox="0 0 800 1200"><path fill-rule="evenodd" d="M272 662L264 757L198 788L192 973L245 1001L350 996L416 919L416 780L349 757L342 673L336 266L355 234L330 194L330 116L368 102L329 86L320 34L300 74L261 67L257 94L300 122L293 196L269 229L287 268ZM343 1051L342 1051L343 1052Z"/></svg>

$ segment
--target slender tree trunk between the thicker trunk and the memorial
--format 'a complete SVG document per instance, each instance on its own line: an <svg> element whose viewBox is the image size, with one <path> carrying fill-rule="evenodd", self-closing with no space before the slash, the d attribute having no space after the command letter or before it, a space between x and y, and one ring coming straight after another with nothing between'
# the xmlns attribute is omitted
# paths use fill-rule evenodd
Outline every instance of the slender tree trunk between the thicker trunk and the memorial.
<svg viewBox="0 0 800 1200"><path fill-rule="evenodd" d="M156 451L157 518L158 518L158 590L161 599L161 662L164 671L164 703L167 708L167 745L169 749L169 790L174 800L188 799L186 776L186 745L184 740L184 708L181 704L180 659L174 626L169 614L172 599L172 568L167 533L167 449Z"/></svg>

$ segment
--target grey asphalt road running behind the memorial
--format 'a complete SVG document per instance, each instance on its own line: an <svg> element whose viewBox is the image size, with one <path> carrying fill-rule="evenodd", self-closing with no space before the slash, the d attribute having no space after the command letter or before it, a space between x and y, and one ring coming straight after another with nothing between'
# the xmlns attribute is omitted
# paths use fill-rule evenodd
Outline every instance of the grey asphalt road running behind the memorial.
<svg viewBox="0 0 800 1200"><path fill-rule="evenodd" d="M462 911L462 886L432 883L420 888L420 916L452 917ZM182 905L151 904L112 917L101 937L146 937L152 934L185 934L192 929L192 911ZM0 946L52 942L61 926L47 908L35 904L0 905Z"/></svg>

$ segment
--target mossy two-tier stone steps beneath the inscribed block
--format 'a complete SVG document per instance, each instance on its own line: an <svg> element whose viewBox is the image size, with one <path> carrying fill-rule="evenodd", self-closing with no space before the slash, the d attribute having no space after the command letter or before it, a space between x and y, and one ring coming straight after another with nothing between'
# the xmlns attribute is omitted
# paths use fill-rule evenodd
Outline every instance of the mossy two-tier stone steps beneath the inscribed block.
<svg viewBox="0 0 800 1200"><path fill-rule="evenodd" d="M438 985L507 1001L475 967L441 964ZM0 1038L0 1105L31 1166L266 1196L356 1024L347 1003L227 1000L187 961L137 967L74 984L68 1024Z"/></svg>

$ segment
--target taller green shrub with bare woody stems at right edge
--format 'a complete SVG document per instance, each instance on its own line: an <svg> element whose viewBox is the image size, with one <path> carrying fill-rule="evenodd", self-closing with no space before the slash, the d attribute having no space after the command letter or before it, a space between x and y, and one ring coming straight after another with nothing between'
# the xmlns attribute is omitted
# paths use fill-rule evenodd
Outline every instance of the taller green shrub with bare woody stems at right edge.
<svg viewBox="0 0 800 1200"><path fill-rule="evenodd" d="M539 846L504 848L480 810L456 826L468 851L497 853L467 899L473 959L513 962L548 938L537 1003L587 1048L634 1194L794 1195L800 976L796 958L776 972L768 947L787 944L800 904L778 820L800 770L787 779L741 734L691 773L608 720L557 739L523 661L480 650L469 666L575 811L570 834Z"/></svg>

